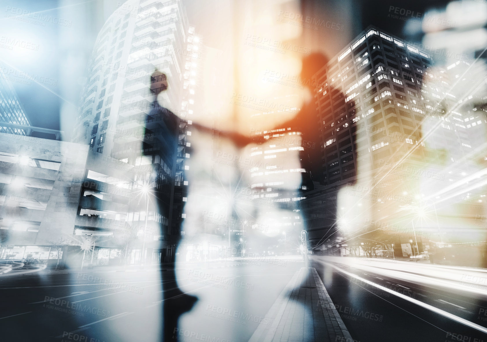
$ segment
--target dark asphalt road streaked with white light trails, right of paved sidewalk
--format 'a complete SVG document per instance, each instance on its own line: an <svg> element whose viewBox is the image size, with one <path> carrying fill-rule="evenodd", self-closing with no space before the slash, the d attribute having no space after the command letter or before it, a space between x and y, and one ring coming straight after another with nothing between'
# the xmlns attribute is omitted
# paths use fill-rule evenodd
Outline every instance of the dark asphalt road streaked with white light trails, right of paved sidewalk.
<svg viewBox="0 0 487 342"><path fill-rule="evenodd" d="M431 265L430 270L430 265L407 262L325 256L311 260L356 341L487 341L487 329L480 330L487 327L482 275L474 278L468 269Z"/></svg>

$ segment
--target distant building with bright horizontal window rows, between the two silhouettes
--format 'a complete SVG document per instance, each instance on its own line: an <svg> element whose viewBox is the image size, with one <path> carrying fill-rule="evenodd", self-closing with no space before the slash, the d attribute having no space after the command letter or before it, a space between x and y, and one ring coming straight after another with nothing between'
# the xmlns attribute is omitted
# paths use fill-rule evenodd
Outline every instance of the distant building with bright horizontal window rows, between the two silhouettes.
<svg viewBox="0 0 487 342"><path fill-rule="evenodd" d="M294 95L298 96L298 95ZM262 126L262 115L278 117L292 113L297 115L300 108L290 105L290 96L274 99L280 106L270 106L266 111L253 115L255 127ZM278 121L278 120L276 120ZM293 123L293 120L272 127L273 129L255 129L254 137L263 139L263 144L257 144L250 150L251 165L249 199L259 205L264 219L264 225L250 227L259 230L259 233L270 237L269 246L278 245L277 241L289 239L298 241L302 230L300 216L300 200L304 198L303 191L310 187L310 170L302 167L302 160L307 158L306 142L303 141L303 132ZM262 239L259 236L258 239ZM272 242L274 240L274 242ZM274 248L277 253L294 251L294 245L280 243ZM269 251L270 252L270 251Z"/></svg>

